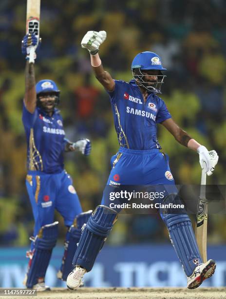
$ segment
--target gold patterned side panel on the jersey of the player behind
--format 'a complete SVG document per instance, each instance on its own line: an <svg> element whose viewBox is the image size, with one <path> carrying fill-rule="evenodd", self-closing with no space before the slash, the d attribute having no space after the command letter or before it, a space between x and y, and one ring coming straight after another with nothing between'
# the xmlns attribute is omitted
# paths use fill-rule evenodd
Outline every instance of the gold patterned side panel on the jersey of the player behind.
<svg viewBox="0 0 226 299"><path fill-rule="evenodd" d="M41 155L36 148L34 130L31 128L30 138L29 138L29 170L31 171L43 171L43 163Z"/></svg>

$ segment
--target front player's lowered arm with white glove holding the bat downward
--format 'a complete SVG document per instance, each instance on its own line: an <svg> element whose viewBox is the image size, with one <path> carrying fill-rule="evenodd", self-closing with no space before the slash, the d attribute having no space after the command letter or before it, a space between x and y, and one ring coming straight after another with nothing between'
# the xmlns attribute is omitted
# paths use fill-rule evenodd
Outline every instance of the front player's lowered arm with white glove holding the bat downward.
<svg viewBox="0 0 226 299"><path fill-rule="evenodd" d="M201 168L206 170L207 175L211 175L218 162L218 155L215 150L210 150L191 138L186 131L180 128L173 119L169 118L162 122L162 125L174 136L174 138L185 147L196 150L199 153L199 163Z"/></svg>

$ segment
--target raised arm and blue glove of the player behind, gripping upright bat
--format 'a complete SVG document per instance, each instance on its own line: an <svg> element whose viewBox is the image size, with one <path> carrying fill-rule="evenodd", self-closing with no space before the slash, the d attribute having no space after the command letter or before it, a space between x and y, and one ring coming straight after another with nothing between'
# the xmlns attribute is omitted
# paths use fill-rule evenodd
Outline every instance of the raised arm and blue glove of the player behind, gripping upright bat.
<svg viewBox="0 0 226 299"><path fill-rule="evenodd" d="M36 80L34 63L29 64L30 47L38 46L38 39L34 34L26 34L22 40L22 53L26 55L25 66L25 95L24 105L30 113L34 113L36 109Z"/></svg>

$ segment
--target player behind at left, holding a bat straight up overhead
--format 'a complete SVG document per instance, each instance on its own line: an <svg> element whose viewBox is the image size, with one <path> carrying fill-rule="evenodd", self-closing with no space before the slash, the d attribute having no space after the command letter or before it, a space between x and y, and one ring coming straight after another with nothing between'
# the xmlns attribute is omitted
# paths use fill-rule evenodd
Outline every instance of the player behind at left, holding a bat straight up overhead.
<svg viewBox="0 0 226 299"><path fill-rule="evenodd" d="M34 236L31 237L30 258L24 284L38 291L49 290L45 274L52 250L57 242L58 222L54 222L55 209L63 216L68 227L62 265L57 277L66 280L72 271L72 259L81 235L81 227L92 211L82 213L71 176L64 170L64 152L80 151L89 155L88 139L73 143L65 138L63 120L59 110L56 83L41 80L36 84L34 64L29 63L30 46L37 48L34 35L22 40L22 53L26 55L25 96L22 121L27 138L26 187L35 219Z"/></svg>

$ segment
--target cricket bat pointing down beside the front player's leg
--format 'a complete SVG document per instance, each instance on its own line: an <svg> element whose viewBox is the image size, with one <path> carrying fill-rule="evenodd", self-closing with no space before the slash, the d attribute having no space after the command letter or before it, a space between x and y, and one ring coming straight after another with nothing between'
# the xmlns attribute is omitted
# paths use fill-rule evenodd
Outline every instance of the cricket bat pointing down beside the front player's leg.
<svg viewBox="0 0 226 299"><path fill-rule="evenodd" d="M201 187L196 214L195 238L199 247L203 262L207 261L207 199L206 199L206 170L202 170Z"/></svg>

